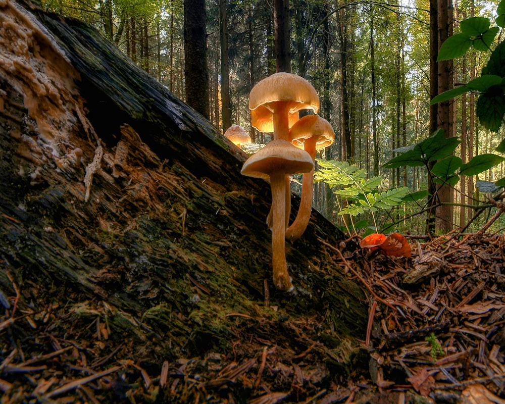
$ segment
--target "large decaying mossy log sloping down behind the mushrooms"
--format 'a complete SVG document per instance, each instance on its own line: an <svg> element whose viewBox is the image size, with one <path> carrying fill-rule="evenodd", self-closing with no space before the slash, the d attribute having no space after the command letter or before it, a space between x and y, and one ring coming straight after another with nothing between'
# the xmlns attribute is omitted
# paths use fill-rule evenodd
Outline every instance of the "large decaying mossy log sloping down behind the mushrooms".
<svg viewBox="0 0 505 404"><path fill-rule="evenodd" d="M291 376L262 380L293 401L293 375L308 381L300 400L345 378L368 305L319 242L341 233L314 211L286 243L296 292L277 292L270 187L240 174L247 156L90 26L27 2L0 14L0 288L6 313L29 317L0 329L2 357L73 346L67 361L94 371L128 359L159 381L164 362L173 373L192 359L249 364L239 375L254 381L277 347ZM227 380L209 397L261 395L246 376ZM126 399L113 390L104 400ZM160 390L167 402L199 394Z"/></svg>

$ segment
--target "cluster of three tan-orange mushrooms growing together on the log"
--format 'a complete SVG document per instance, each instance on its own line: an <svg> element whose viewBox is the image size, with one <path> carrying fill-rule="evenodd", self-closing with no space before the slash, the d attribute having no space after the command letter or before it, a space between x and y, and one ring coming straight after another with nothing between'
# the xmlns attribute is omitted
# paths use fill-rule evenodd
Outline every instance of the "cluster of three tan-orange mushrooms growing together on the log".
<svg viewBox="0 0 505 404"><path fill-rule="evenodd" d="M272 207L267 223L272 229L273 280L277 289L293 289L287 271L285 240L293 242L307 228L312 210L316 152L333 143L330 123L317 115L299 118L299 111L319 112L319 97L304 78L275 73L260 81L249 94L251 125L273 132L273 140L249 157L241 173L270 180ZM303 173L301 202L289 225L291 188L289 176Z"/></svg>

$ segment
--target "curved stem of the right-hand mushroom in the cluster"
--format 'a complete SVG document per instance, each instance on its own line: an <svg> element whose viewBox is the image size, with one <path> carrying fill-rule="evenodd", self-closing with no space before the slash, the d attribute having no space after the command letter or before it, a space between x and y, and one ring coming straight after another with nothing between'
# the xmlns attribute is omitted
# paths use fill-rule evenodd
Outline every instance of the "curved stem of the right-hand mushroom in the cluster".
<svg viewBox="0 0 505 404"><path fill-rule="evenodd" d="M311 137L304 142L304 148L316 162L316 139ZM314 189L314 169L311 172L304 173L301 184L301 201L298 213L294 222L286 230L286 240L293 242L304 234L312 212L312 194Z"/></svg>

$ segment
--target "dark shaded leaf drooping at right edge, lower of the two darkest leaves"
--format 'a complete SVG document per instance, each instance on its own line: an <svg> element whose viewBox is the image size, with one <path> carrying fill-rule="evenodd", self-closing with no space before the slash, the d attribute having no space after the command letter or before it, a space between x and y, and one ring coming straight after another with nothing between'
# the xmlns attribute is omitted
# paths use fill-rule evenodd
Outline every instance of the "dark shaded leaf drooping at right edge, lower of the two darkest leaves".
<svg viewBox="0 0 505 404"><path fill-rule="evenodd" d="M481 94L475 109L479 121L486 129L497 132L505 115L505 94L501 86L493 86Z"/></svg>

